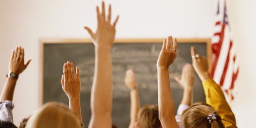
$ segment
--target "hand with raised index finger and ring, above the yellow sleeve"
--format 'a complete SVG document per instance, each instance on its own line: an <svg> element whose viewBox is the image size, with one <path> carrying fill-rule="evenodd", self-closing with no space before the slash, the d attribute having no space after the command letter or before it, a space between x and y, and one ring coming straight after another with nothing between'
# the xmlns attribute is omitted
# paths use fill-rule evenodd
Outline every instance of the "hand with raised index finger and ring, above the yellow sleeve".
<svg viewBox="0 0 256 128"><path fill-rule="evenodd" d="M193 46L191 47L190 51L192 57L192 65L201 81L203 82L206 79L211 79L208 60L205 57L201 57L199 54L196 54L195 48Z"/></svg>

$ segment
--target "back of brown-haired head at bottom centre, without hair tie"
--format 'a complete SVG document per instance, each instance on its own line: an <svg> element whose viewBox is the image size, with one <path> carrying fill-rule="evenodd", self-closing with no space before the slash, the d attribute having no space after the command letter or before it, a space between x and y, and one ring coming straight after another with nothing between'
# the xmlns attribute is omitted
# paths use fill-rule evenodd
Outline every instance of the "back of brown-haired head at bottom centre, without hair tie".
<svg viewBox="0 0 256 128"><path fill-rule="evenodd" d="M159 128L161 122L158 118L158 106L146 104L139 109L137 117L139 128Z"/></svg>

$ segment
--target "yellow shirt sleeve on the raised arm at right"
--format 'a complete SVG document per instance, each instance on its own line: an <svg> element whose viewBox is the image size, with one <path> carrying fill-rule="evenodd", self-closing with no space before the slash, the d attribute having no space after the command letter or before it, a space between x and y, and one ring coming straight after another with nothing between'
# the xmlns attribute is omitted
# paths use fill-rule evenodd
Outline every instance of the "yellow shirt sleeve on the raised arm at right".
<svg viewBox="0 0 256 128"><path fill-rule="evenodd" d="M207 79L203 82L203 89L206 103L218 112L225 128L237 128L235 115L227 104L221 86L216 84L213 79Z"/></svg>

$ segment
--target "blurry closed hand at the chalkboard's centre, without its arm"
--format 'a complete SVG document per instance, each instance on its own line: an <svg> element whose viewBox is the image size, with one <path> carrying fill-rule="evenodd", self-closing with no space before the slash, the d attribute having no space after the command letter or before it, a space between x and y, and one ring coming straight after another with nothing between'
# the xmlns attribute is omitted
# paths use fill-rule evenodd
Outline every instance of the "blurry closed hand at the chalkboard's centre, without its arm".
<svg viewBox="0 0 256 128"><path fill-rule="evenodd" d="M135 75L132 70L126 71L126 76L124 79L124 83L129 89L133 89L137 87L136 81L135 81Z"/></svg>

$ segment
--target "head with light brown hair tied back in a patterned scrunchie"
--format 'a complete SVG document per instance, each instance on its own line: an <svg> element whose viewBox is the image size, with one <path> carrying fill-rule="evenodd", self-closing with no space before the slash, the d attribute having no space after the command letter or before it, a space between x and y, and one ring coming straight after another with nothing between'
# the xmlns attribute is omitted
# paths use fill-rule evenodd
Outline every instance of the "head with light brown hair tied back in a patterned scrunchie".
<svg viewBox="0 0 256 128"><path fill-rule="evenodd" d="M212 114L215 116L209 116ZM184 128L224 128L221 117L216 110L210 105L203 104L193 104L188 109L184 110L181 123Z"/></svg>

